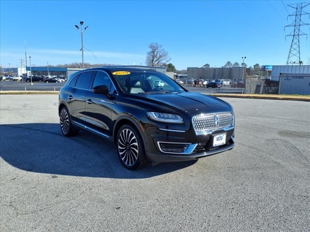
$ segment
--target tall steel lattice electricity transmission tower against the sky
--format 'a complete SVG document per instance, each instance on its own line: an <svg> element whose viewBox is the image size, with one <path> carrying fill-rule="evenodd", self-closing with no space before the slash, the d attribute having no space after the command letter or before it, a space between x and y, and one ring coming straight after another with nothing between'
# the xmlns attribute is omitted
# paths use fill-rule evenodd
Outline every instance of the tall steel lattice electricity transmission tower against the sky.
<svg viewBox="0 0 310 232"><path fill-rule="evenodd" d="M287 57L286 65L288 64L299 64L302 65L302 61L300 60L300 45L299 45L299 36L307 35L308 34L302 32L300 30L300 27L310 25L309 23L304 23L301 19L302 15L309 15L309 13L304 12L302 9L308 6L310 2L303 2L303 3L296 3L287 5L289 7L292 7L295 9L295 12L293 14L289 14L287 17L294 16L295 20L284 27L284 30L286 27L294 27L294 31L292 31L290 34L285 36L285 39L287 36L293 36L289 56Z"/></svg>

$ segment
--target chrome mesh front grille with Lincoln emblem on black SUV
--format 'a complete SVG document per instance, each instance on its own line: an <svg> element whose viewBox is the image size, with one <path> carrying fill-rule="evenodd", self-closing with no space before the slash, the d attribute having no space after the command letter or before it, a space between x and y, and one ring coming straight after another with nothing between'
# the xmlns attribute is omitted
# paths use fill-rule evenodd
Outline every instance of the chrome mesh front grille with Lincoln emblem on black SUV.
<svg viewBox="0 0 310 232"><path fill-rule="evenodd" d="M192 123L196 134L204 134L218 129L231 128L234 124L233 120L232 112L222 112L194 116Z"/></svg>

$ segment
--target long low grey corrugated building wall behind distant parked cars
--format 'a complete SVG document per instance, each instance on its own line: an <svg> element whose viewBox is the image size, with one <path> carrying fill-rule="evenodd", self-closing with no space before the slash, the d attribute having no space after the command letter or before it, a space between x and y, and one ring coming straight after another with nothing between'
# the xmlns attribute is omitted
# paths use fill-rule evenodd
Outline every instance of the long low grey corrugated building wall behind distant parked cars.
<svg viewBox="0 0 310 232"><path fill-rule="evenodd" d="M235 79L242 80L242 67L237 68L187 68L188 79ZM244 68L244 80L246 79L246 68Z"/></svg>

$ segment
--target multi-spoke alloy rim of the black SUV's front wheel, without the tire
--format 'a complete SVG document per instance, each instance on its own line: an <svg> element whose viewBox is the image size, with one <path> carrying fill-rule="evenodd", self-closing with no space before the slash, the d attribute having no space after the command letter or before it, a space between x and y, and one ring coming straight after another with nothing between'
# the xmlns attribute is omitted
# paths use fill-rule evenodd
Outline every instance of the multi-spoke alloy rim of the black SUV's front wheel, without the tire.
<svg viewBox="0 0 310 232"><path fill-rule="evenodd" d="M118 138L118 151L124 164L127 166L133 166L139 156L138 140L129 129L121 131Z"/></svg>

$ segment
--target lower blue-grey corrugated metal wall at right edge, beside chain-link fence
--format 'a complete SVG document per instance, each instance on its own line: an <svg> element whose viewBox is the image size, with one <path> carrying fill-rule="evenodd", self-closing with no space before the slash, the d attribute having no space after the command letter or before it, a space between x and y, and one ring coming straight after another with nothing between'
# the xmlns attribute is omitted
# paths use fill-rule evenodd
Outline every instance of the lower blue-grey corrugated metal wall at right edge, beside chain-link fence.
<svg viewBox="0 0 310 232"><path fill-rule="evenodd" d="M279 94L310 95L310 74L282 73Z"/></svg>

